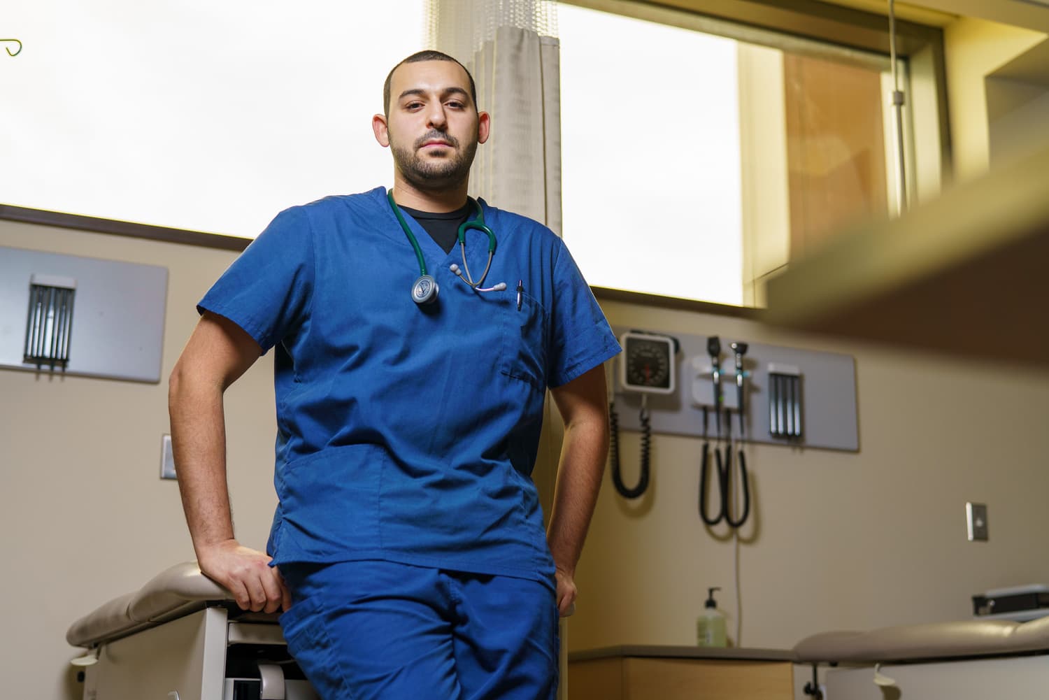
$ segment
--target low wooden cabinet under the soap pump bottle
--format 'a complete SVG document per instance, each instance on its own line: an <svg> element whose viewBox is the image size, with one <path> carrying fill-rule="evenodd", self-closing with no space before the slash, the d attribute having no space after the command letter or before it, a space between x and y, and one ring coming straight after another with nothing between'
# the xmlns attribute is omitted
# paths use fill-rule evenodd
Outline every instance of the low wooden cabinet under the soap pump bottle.
<svg viewBox="0 0 1049 700"><path fill-rule="evenodd" d="M753 659L746 650L721 650L728 658L710 658L716 654L651 646L572 654L569 700L793 700L787 653Z"/></svg>

